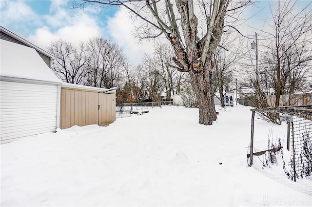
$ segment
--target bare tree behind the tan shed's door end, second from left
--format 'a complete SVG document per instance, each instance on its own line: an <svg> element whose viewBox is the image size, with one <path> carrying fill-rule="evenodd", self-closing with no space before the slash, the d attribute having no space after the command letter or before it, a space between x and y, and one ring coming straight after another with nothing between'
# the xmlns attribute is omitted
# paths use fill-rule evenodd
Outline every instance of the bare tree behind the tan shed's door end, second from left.
<svg viewBox="0 0 312 207"><path fill-rule="evenodd" d="M93 38L87 43L90 57L87 84L110 88L120 78L125 58L120 47L110 40Z"/></svg>

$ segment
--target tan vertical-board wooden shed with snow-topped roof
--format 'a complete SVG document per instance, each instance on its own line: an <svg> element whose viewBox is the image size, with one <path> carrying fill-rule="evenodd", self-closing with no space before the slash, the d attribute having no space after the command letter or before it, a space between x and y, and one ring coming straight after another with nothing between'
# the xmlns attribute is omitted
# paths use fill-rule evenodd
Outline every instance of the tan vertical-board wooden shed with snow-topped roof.
<svg viewBox="0 0 312 207"><path fill-rule="evenodd" d="M116 91L63 83L61 86L60 128L73 125L109 125L116 120Z"/></svg>

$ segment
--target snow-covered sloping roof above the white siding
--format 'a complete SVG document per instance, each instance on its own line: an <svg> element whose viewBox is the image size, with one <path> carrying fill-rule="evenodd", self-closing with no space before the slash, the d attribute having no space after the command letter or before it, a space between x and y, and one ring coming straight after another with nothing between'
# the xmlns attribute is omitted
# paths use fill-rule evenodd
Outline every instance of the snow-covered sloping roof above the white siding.
<svg viewBox="0 0 312 207"><path fill-rule="evenodd" d="M31 47L0 40L0 76L61 83Z"/></svg>

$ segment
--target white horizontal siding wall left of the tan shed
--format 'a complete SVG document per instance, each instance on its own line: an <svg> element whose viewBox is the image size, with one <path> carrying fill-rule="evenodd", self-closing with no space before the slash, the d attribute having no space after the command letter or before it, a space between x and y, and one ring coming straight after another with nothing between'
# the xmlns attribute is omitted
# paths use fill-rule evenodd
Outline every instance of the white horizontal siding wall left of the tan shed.
<svg viewBox="0 0 312 207"><path fill-rule="evenodd" d="M1 143L54 132L57 126L57 100L57 85L1 81Z"/></svg>

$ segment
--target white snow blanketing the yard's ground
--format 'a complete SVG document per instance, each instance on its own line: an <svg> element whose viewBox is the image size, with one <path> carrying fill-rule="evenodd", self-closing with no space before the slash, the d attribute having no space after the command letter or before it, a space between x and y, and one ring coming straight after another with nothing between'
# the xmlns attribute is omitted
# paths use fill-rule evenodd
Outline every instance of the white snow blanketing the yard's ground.
<svg viewBox="0 0 312 207"><path fill-rule="evenodd" d="M212 126L197 124L196 108L154 107L106 127L73 126L0 145L0 204L311 206L311 195L248 167L250 108L216 108ZM269 131L284 139L287 125L255 119L254 129L254 140L266 142Z"/></svg>

